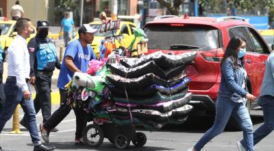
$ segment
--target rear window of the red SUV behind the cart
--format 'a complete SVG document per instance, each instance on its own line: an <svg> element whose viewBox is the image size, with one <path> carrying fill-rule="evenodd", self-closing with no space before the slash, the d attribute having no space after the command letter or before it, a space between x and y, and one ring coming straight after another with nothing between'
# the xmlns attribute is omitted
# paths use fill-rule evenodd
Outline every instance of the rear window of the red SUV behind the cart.
<svg viewBox="0 0 274 151"><path fill-rule="evenodd" d="M194 25L150 25L145 27L148 49L210 50L219 48L218 30Z"/></svg>

